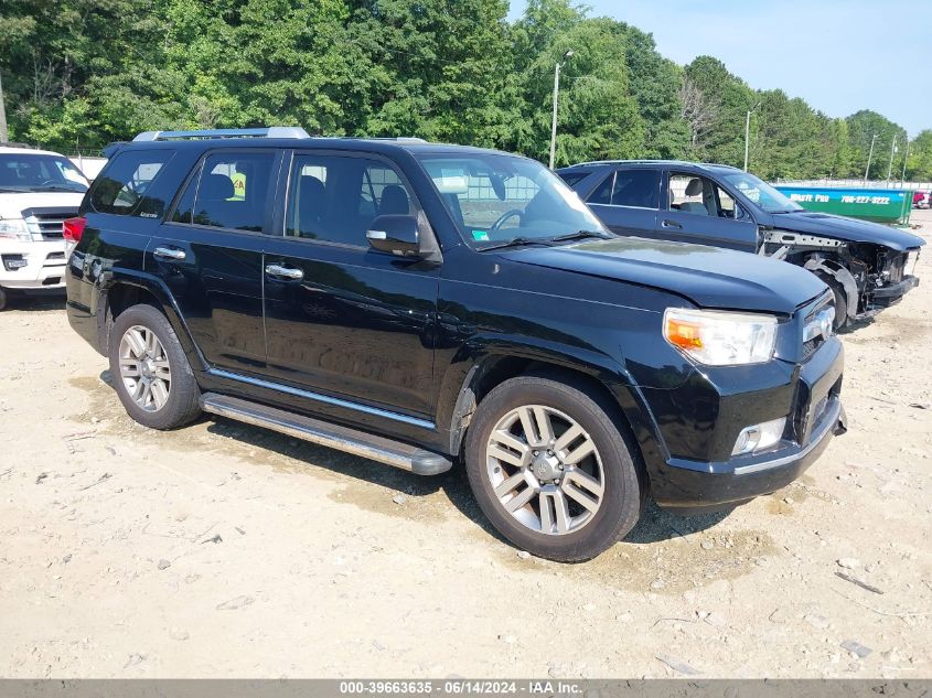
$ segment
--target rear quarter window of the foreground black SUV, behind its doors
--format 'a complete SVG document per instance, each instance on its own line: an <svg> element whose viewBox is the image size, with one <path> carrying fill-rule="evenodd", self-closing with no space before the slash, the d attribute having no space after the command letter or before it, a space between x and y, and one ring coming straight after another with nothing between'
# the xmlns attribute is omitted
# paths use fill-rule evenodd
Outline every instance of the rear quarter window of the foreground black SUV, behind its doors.
<svg viewBox="0 0 932 698"><path fill-rule="evenodd" d="M116 154L90 190L90 206L97 213L158 217L165 201L149 194L173 150L130 150Z"/></svg>

